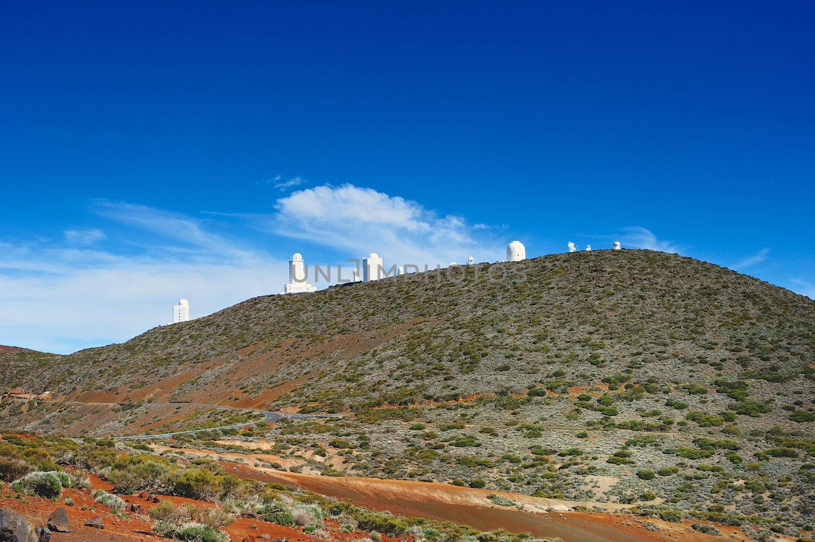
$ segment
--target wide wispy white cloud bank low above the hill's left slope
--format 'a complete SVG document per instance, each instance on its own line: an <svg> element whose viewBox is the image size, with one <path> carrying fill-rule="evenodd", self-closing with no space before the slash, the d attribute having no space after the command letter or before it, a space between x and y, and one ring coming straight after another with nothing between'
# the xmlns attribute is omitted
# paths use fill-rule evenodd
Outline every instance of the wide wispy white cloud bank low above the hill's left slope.
<svg viewBox="0 0 815 542"><path fill-rule="evenodd" d="M279 293L287 278L284 261L238 248L190 217L109 202L99 213L174 243L134 256L0 244L0 344L64 353L121 342L166 324L182 297L200 317Z"/></svg>

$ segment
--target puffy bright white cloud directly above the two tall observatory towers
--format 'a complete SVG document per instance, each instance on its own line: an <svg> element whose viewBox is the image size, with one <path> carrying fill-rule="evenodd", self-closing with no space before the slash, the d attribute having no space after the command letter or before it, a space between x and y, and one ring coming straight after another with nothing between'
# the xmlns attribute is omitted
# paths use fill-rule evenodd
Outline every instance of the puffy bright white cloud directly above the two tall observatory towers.
<svg viewBox="0 0 815 542"><path fill-rule="evenodd" d="M476 256L497 260L500 243L474 238L460 216L438 216L421 204L346 184L299 190L277 200L278 234L349 252L377 252L391 264L443 264Z"/></svg>

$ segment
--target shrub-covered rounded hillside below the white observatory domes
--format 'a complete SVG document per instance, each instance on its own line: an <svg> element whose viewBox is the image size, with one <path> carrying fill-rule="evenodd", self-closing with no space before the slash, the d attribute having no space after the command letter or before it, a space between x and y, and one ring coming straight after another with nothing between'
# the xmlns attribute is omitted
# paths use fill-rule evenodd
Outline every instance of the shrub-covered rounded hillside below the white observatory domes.
<svg viewBox="0 0 815 542"><path fill-rule="evenodd" d="M150 401L343 413L184 445L811 527L812 300L654 251L501 265L501 282L479 264L460 283L418 273L249 299L70 356L0 352L0 387L55 398L5 400L0 417L106 435L222 416Z"/></svg>

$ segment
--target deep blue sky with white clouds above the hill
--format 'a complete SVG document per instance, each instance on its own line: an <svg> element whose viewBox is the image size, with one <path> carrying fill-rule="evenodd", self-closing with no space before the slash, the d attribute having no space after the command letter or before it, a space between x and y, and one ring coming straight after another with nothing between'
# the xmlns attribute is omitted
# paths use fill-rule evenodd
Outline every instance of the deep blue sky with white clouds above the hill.
<svg viewBox="0 0 815 542"><path fill-rule="evenodd" d="M0 344L277 293L293 251L447 264L514 238L815 297L815 8L537 5L6 7Z"/></svg>

